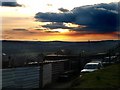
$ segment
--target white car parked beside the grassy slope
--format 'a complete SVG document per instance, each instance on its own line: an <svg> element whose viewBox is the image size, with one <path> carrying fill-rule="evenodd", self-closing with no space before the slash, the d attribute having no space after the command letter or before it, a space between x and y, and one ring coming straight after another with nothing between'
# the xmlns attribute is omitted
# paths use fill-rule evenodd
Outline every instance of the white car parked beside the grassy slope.
<svg viewBox="0 0 120 90"><path fill-rule="evenodd" d="M102 69L103 65L101 61L92 61L87 63L84 68L81 70L81 73L93 72L98 69Z"/></svg>

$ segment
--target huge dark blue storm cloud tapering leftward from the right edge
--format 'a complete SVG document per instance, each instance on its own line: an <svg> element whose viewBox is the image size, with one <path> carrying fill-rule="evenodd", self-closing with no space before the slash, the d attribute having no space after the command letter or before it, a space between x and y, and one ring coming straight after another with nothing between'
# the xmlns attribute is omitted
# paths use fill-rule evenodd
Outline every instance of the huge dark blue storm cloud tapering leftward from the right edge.
<svg viewBox="0 0 120 90"><path fill-rule="evenodd" d="M76 7L64 13L42 13L36 14L38 21L44 22L66 22L85 25L82 30L90 32L114 32L118 25L118 3L96 4ZM76 31L81 28L75 29Z"/></svg>

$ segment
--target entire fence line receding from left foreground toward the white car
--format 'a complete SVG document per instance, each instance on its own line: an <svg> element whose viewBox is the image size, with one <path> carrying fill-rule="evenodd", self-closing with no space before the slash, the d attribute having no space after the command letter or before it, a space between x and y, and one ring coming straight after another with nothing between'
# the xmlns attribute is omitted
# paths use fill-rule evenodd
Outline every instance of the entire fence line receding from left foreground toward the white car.
<svg viewBox="0 0 120 90"><path fill-rule="evenodd" d="M68 65L66 65L66 63ZM76 64L77 63L77 64ZM43 68L37 65L2 69L3 88L39 88L54 82L65 71L76 70L78 60L53 60L44 63ZM41 72L42 71L42 72Z"/></svg>

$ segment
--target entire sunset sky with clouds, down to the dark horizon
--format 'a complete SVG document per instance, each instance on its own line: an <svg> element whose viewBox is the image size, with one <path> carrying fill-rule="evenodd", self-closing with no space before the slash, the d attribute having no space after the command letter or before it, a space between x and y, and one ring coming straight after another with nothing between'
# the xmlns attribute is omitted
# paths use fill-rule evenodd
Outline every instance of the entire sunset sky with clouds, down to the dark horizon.
<svg viewBox="0 0 120 90"><path fill-rule="evenodd" d="M2 40L116 40L119 0L0 0Z"/></svg>

